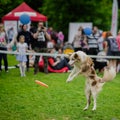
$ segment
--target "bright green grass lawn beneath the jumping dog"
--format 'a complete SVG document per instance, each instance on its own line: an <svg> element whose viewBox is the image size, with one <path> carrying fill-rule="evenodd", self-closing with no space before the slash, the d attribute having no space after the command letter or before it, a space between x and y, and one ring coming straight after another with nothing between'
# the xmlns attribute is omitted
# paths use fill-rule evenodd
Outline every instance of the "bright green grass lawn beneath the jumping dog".
<svg viewBox="0 0 120 120"><path fill-rule="evenodd" d="M9 65L17 64L13 55ZM120 120L120 74L106 83L98 96L97 110L83 111L86 104L84 77L67 84L69 73L39 73L33 68L20 77L19 69L0 73L0 120ZM45 88L35 83L43 81Z"/></svg>

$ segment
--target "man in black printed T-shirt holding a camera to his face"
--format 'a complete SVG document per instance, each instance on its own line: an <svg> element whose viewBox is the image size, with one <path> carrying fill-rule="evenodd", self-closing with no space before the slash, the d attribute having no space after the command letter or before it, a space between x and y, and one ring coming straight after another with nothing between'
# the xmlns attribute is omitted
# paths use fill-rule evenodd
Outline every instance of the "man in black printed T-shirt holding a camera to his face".
<svg viewBox="0 0 120 120"><path fill-rule="evenodd" d="M38 22L38 28L34 31L33 38L34 38L34 46L33 49L35 52L46 53L47 52L47 40L50 40L50 35L47 33L47 28L44 27L44 23L42 21ZM39 57L35 57L34 62L34 74L37 74L39 70L38 62ZM44 72L48 73L48 59L46 56L43 56L44 60Z"/></svg>

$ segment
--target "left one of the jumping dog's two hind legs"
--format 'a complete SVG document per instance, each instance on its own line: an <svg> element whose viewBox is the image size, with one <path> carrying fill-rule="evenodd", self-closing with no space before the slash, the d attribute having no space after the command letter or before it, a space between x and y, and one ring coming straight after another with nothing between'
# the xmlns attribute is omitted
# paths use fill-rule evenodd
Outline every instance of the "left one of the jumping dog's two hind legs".
<svg viewBox="0 0 120 120"><path fill-rule="evenodd" d="M84 108L84 110L87 110L89 105L90 105L90 103L91 103L91 90L89 89L88 85L86 85L85 95L86 95L86 99L87 99L87 105Z"/></svg>

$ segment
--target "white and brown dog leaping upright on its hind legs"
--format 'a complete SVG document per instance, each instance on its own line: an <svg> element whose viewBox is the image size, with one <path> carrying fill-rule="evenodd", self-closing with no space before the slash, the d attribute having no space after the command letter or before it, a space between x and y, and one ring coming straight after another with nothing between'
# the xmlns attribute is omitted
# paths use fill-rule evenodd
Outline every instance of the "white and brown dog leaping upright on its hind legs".
<svg viewBox="0 0 120 120"><path fill-rule="evenodd" d="M113 67L106 67L104 70L103 77L99 77L96 74L94 69L94 63L92 58L90 58L87 54L82 51L74 52L70 55L69 64L73 65L73 70L69 74L66 82L72 81L79 74L84 75L86 78L86 87L85 87L85 95L87 99L87 104L84 110L87 110L90 105L90 98L93 97L93 108L92 110L96 110L96 98L98 93L101 91L102 86L107 81L111 81L116 76L116 71Z"/></svg>

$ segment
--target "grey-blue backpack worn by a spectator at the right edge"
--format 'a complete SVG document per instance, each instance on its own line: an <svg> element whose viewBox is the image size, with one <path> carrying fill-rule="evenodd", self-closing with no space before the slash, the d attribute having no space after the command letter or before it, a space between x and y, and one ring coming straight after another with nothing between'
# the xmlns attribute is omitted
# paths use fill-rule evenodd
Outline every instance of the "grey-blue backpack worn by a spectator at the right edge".
<svg viewBox="0 0 120 120"><path fill-rule="evenodd" d="M112 38L109 40L110 41L110 50L112 52L118 52L119 48L118 48L118 44L115 38Z"/></svg>

